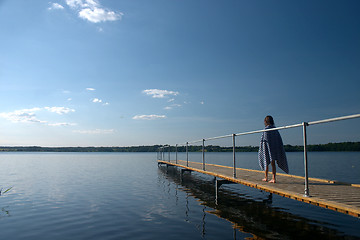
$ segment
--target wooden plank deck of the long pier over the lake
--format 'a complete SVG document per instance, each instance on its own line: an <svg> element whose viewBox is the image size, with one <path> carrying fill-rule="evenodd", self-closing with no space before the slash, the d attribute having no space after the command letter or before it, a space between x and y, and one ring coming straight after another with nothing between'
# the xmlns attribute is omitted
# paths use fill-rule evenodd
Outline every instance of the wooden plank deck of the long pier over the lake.
<svg viewBox="0 0 360 240"><path fill-rule="evenodd" d="M234 178L233 168L227 166L206 164L204 171L202 163L197 162L189 162L188 167L186 161L183 160L178 160L178 164L173 160L170 162L158 160L158 163L178 166L354 217L360 217L359 185L309 178L310 197L306 197L304 196L304 177L300 176L277 173L276 183L274 184L263 182L264 172L258 170L237 168L236 178ZM272 176L271 172L269 172L269 176Z"/></svg>

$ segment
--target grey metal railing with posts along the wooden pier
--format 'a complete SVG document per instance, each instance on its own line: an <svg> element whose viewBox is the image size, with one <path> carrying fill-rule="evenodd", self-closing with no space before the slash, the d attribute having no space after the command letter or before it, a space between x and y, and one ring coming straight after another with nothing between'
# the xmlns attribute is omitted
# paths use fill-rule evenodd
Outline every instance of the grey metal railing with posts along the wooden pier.
<svg viewBox="0 0 360 240"><path fill-rule="evenodd" d="M216 140L216 139L222 139L222 138L232 138L232 145L233 145L233 176L236 178L236 155L235 155L235 144L236 144L236 137L237 136L243 136L243 135L249 135L249 134L255 134L255 133L263 133L263 132L269 132L269 131L275 131L275 130L283 130L288 128L297 128L302 127L303 128L303 143L304 143L304 175L305 175L305 196L309 196L309 176L308 176L308 157L307 157L307 127L315 124L322 124L322 123L329 123L329 122L335 122L335 121L342 121L347 119L353 119L353 118L360 118L360 114L354 114L349 116L343 116L343 117L337 117L337 118L330 118L325 120L319 120L319 121L312 121L312 122L302 122L294 125L289 126L282 126L277 128L271 128L271 129L262 129L262 130L256 130L256 131L250 131L250 132L242 132L242 133L234 133L234 134L228 134L224 136L218 136L218 137L212 137L212 138L206 138L191 142L186 142L183 144L176 144L175 145L175 161L177 163L178 156L177 156L177 149L179 145L185 145L186 146L186 166L189 166L189 144L202 142L202 166L203 170L205 171L205 141L210 140ZM164 145L159 148L157 159L158 160L165 160L165 151L168 152L168 160L170 161L170 152L171 152L171 146L170 145Z"/></svg>

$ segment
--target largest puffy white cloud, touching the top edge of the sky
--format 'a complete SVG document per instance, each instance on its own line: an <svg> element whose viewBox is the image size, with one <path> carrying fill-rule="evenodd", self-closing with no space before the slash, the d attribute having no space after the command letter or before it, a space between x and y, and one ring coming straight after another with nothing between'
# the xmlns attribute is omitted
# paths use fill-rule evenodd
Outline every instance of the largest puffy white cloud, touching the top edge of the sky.
<svg viewBox="0 0 360 240"><path fill-rule="evenodd" d="M77 11L80 18L92 23L117 21L124 15L104 8L97 0L66 0L66 4Z"/></svg>

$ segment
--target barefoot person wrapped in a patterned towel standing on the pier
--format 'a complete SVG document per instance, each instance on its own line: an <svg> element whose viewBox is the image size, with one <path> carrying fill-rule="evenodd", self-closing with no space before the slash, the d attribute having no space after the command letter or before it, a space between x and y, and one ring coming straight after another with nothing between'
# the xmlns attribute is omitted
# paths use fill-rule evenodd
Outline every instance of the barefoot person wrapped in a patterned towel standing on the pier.
<svg viewBox="0 0 360 240"><path fill-rule="evenodd" d="M266 116L264 119L265 129L275 128L274 119L271 116ZM265 170L264 182L268 181L269 164L271 163L273 177L269 181L276 182L276 166L284 172L289 173L287 159L285 155L284 145L277 130L263 132L259 147L259 164L262 170Z"/></svg>

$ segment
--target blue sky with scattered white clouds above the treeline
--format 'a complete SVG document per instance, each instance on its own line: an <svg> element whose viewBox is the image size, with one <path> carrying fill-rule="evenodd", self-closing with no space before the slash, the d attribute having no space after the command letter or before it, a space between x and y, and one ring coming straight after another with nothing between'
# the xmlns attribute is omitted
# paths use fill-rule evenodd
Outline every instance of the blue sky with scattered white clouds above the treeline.
<svg viewBox="0 0 360 240"><path fill-rule="evenodd" d="M359 12L357 0L0 0L0 146L174 145L262 129L266 115L360 113ZM300 128L281 135L302 144ZM360 119L308 137L360 141Z"/></svg>

